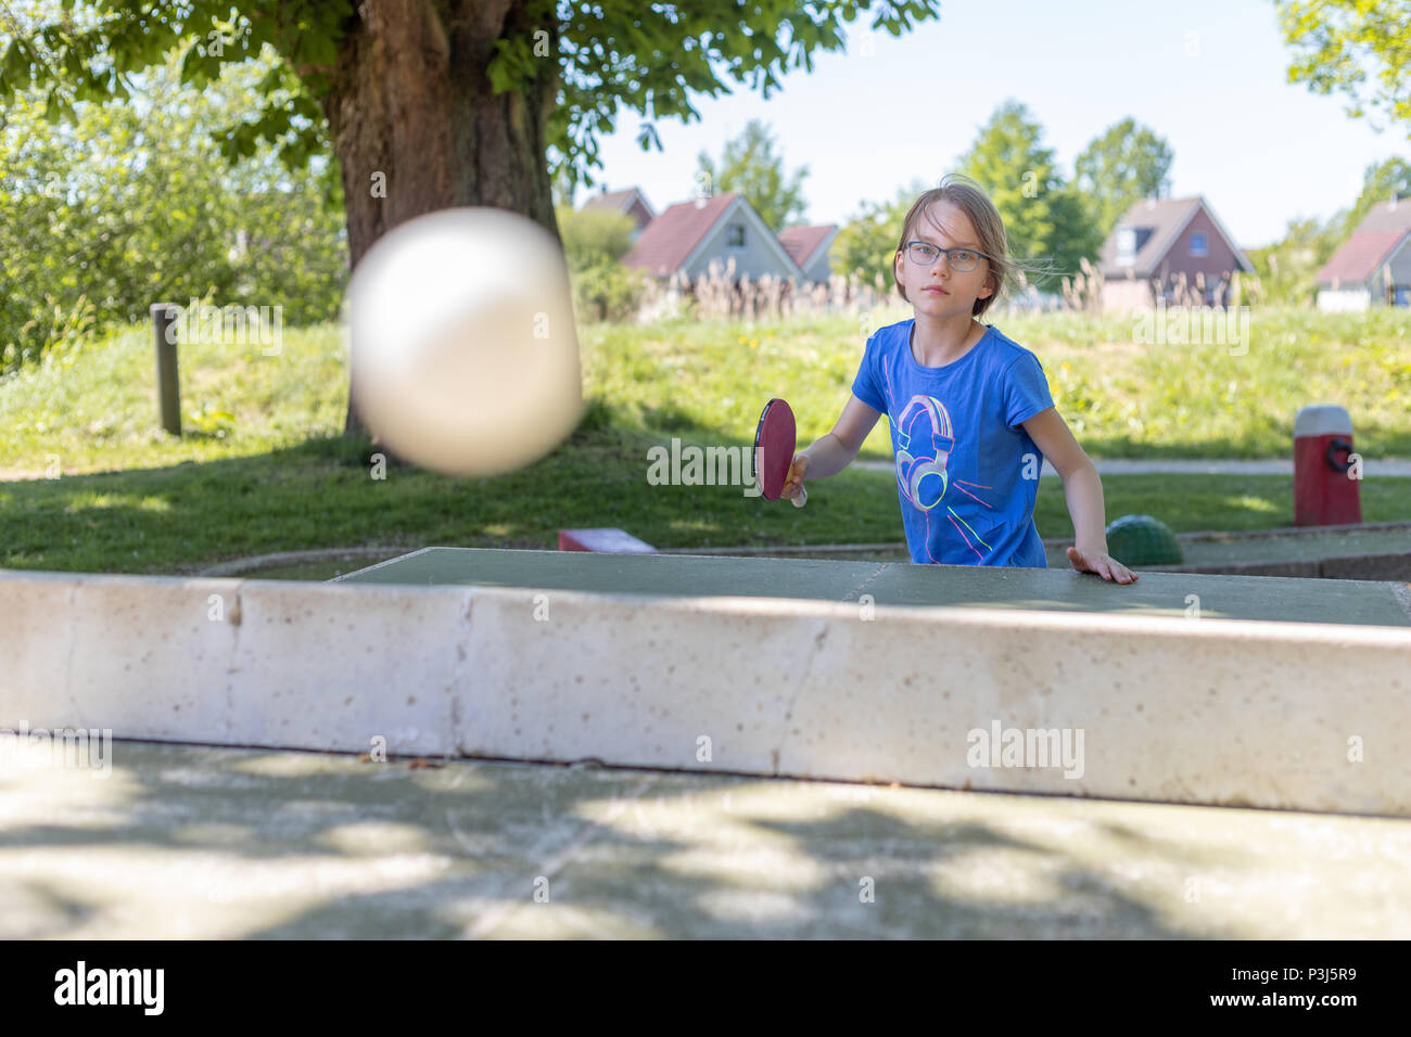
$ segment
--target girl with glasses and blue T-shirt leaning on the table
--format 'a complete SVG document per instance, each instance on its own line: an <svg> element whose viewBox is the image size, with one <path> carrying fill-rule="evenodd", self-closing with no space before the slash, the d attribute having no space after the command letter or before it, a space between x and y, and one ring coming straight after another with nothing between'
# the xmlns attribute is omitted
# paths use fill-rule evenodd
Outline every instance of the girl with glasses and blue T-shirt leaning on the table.
<svg viewBox="0 0 1411 1037"><path fill-rule="evenodd" d="M1068 498L1072 567L1132 583L1136 573L1108 554L1098 468L1054 409L1038 358L976 320L1019 265L978 185L947 176L923 193L893 261L914 316L868 339L851 399L832 432L794 457L783 495L842 471L885 413L913 562L1047 567L1034 525L1047 457Z"/></svg>

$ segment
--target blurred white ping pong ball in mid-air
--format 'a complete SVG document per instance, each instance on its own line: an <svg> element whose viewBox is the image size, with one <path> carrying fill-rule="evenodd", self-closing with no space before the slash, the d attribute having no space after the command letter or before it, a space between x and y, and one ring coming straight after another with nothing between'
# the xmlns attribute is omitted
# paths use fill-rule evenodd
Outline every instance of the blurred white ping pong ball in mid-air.
<svg viewBox="0 0 1411 1037"><path fill-rule="evenodd" d="M504 209L444 209L382 236L349 278L353 398L396 454L447 475L538 460L583 416L569 272Z"/></svg>

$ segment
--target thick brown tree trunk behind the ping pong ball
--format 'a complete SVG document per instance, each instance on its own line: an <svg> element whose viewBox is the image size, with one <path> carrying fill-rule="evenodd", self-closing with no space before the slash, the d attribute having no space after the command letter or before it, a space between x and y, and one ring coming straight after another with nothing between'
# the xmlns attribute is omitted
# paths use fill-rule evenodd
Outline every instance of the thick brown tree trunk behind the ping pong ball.
<svg viewBox="0 0 1411 1037"><path fill-rule="evenodd" d="M559 90L557 25L532 0L361 0L323 97L343 172L353 267L382 234L437 209L494 206L556 238L546 124ZM543 4L536 4L543 7ZM492 96L504 37L539 37L542 73ZM378 176L381 174L381 176ZM385 198L375 185L385 185ZM344 435L365 433L351 387Z"/></svg>

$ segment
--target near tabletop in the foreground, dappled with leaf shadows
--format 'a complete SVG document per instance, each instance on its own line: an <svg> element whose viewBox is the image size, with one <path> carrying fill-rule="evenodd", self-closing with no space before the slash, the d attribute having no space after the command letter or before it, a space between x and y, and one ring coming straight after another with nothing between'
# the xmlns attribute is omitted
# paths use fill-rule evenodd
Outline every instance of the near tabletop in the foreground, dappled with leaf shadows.
<svg viewBox="0 0 1411 1037"><path fill-rule="evenodd" d="M3 938L1411 937L1411 821L144 742L107 777L34 763L0 756Z"/></svg>

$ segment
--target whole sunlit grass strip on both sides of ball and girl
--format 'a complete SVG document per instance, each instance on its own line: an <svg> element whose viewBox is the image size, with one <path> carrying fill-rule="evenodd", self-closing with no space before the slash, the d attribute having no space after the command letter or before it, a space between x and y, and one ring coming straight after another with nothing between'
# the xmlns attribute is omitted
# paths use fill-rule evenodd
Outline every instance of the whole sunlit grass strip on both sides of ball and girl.
<svg viewBox="0 0 1411 1037"><path fill-rule="evenodd" d="M794 405L800 436L832 427L868 337L912 315L900 299L787 317L676 315L579 329L584 392L604 420L652 433L748 439L759 409ZM986 313L1044 365L1058 412L1095 457L1288 457L1298 408L1340 404L1367 457L1411 457L1411 312L1257 308L1242 354L1139 340L1136 317ZM248 456L336 436L347 406L334 326L258 347L181 347L188 436L157 420L151 329L72 344L0 378L0 473L124 470ZM889 456L886 423L868 440Z"/></svg>

